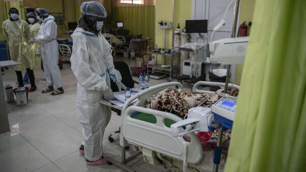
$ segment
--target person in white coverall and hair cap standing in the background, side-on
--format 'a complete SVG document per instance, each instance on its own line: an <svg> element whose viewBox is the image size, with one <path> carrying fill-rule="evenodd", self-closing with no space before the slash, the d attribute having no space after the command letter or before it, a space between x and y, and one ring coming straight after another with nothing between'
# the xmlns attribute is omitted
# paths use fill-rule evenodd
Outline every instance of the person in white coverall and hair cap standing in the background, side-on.
<svg viewBox="0 0 306 172"><path fill-rule="evenodd" d="M34 42L41 43L40 53L47 81L47 87L41 92L53 91L51 95L58 95L64 93L64 89L60 68L58 66L57 24L54 22L54 17L51 15L48 16L48 12L44 8L37 9L37 19L42 22L40 30L37 36L30 40L29 44L33 44Z"/></svg>

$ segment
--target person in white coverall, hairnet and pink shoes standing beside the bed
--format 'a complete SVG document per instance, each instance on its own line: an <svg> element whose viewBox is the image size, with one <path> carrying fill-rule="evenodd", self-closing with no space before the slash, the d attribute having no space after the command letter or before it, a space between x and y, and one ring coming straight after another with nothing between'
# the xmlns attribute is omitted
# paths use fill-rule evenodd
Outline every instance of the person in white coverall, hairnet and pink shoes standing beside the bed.
<svg viewBox="0 0 306 172"><path fill-rule="evenodd" d="M114 68L111 45L100 34L105 8L98 2L81 4L83 16L72 36L73 52L71 69L78 80L77 117L83 126L83 141L80 152L88 165L107 163L103 157L102 141L106 126L111 119L111 108L101 105L103 97L113 99L110 79L118 88L126 89L121 75Z"/></svg>

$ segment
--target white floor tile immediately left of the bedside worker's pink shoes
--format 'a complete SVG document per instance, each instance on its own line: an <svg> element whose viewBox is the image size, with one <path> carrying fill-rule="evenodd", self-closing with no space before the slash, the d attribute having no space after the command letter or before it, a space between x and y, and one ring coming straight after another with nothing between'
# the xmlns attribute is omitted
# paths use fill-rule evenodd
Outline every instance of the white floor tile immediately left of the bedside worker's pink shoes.
<svg viewBox="0 0 306 172"><path fill-rule="evenodd" d="M82 134L70 128L35 141L32 144L53 162L78 151L82 144Z"/></svg>

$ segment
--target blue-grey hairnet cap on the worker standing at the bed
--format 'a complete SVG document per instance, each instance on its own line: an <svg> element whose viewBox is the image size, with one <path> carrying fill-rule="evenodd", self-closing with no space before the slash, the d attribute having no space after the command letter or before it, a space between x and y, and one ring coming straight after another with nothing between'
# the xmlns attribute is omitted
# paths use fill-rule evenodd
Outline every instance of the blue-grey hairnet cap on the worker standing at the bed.
<svg viewBox="0 0 306 172"><path fill-rule="evenodd" d="M102 4L96 1L84 2L81 4L81 12L83 14L105 18L107 12Z"/></svg>

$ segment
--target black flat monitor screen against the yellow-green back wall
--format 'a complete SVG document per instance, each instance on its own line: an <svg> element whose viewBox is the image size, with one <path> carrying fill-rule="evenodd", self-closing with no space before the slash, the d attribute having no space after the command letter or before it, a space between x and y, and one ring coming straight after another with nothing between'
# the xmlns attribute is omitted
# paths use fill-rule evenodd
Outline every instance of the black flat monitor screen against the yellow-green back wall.
<svg viewBox="0 0 306 172"><path fill-rule="evenodd" d="M207 33L207 20L186 20L186 33Z"/></svg>

